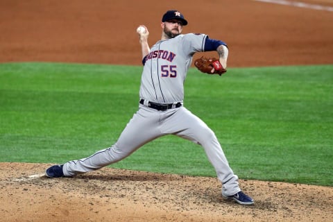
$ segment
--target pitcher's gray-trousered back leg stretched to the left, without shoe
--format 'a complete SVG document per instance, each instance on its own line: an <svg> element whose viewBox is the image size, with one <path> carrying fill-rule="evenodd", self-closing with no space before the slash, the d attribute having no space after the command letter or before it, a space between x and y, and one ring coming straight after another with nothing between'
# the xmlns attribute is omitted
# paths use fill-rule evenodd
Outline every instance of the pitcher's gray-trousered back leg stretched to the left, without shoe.
<svg viewBox="0 0 333 222"><path fill-rule="evenodd" d="M113 146L89 157L65 163L62 167L64 175L74 176L123 160L139 147L160 136L160 131L156 129L156 121L158 121L157 115L140 108Z"/></svg>

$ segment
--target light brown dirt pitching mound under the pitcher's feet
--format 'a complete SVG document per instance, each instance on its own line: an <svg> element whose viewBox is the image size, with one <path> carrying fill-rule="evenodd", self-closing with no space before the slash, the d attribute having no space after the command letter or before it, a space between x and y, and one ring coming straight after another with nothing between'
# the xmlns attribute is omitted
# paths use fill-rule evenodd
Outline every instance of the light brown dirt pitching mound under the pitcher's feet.
<svg viewBox="0 0 333 222"><path fill-rule="evenodd" d="M333 188L240 180L255 198L221 198L216 178L104 168L44 176L49 164L0 163L0 221L331 221Z"/></svg>

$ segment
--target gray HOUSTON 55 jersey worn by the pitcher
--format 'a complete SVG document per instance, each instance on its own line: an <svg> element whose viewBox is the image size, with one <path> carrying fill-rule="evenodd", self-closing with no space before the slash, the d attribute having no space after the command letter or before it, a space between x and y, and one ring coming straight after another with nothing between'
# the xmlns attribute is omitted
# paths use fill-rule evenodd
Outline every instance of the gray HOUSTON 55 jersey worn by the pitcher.
<svg viewBox="0 0 333 222"><path fill-rule="evenodd" d="M184 81L195 52L203 51L207 35L178 35L161 40L144 59L140 97L158 103L184 99Z"/></svg>

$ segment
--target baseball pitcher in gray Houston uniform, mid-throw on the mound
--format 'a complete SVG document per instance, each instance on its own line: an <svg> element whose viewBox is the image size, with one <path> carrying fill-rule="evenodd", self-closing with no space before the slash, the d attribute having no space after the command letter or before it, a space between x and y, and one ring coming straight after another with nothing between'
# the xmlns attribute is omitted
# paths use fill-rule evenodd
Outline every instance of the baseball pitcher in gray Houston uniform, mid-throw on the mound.
<svg viewBox="0 0 333 222"><path fill-rule="evenodd" d="M200 58L194 65L207 74L224 74L227 70L228 46L205 34L182 34L187 25L178 10L168 10L162 17L161 40L151 48L148 28L139 26L137 33L142 48L142 80L139 109L126 125L119 139L109 148L93 155L46 169L49 178L71 177L101 169L128 157L144 144L164 135L176 135L203 146L208 160L221 181L222 196L241 205L254 200L239 187L238 177L228 164L214 132L184 107L184 81L196 52L216 51L216 58Z"/></svg>

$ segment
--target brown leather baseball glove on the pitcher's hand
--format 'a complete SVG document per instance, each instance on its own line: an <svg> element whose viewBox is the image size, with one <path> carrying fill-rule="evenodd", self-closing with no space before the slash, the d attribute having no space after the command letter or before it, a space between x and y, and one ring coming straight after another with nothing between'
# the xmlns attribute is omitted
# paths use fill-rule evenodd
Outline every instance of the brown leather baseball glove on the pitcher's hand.
<svg viewBox="0 0 333 222"><path fill-rule="evenodd" d="M194 61L194 65L205 74L219 74L221 76L227 71L216 58L205 58L201 56L201 58ZM215 71L212 73L213 68Z"/></svg>

